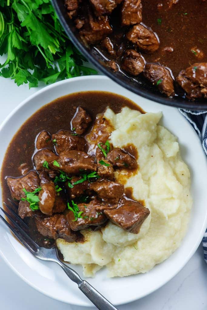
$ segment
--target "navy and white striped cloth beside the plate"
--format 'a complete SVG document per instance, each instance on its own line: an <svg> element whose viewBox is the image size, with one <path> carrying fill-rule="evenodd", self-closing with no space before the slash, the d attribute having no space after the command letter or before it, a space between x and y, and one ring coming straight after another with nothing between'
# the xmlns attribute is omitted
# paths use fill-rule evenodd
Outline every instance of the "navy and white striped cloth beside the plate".
<svg viewBox="0 0 207 310"><path fill-rule="evenodd" d="M207 111L190 111L186 109L179 109L180 113L191 123L191 125L196 130L204 151L207 155ZM203 237L203 250L204 250L204 259L207 263L207 229Z"/></svg>

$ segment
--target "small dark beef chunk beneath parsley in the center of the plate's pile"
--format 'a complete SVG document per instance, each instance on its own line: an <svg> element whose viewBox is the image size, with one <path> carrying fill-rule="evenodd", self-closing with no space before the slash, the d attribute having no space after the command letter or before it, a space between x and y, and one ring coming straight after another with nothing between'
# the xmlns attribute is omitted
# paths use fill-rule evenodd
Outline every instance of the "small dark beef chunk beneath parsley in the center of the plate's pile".
<svg viewBox="0 0 207 310"><path fill-rule="evenodd" d="M87 191L88 183L89 183L88 180L74 185L75 182L77 182L81 179L83 179L83 177L81 177L81 176L73 177L73 179L70 180L70 184L72 185L70 187L68 186L68 182L65 183L65 188L68 192L70 199L80 197L81 195L83 195Z"/></svg>

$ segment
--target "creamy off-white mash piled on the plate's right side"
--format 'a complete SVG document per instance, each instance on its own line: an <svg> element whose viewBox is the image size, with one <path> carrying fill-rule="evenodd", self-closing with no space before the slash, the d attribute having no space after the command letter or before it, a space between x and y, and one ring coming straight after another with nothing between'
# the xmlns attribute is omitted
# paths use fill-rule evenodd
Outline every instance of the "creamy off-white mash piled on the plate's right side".
<svg viewBox="0 0 207 310"><path fill-rule="evenodd" d="M104 115L114 127L110 142L123 148L133 144L138 151L138 170L116 170L117 181L131 188L136 200L144 200L150 215L138 234L109 222L101 231L82 231L83 243L57 240L64 260L83 266L85 276L94 276L106 266L109 277L124 277L149 271L167 259L180 245L192 206L190 172L182 161L177 139L159 125L162 113L145 113L124 107Z"/></svg>

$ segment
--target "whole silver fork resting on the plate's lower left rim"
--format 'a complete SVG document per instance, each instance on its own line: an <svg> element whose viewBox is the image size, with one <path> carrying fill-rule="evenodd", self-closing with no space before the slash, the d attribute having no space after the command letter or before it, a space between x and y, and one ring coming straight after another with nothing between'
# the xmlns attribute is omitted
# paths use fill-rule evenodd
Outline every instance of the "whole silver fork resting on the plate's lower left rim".
<svg viewBox="0 0 207 310"><path fill-rule="evenodd" d="M16 206L10 199L8 199L13 206ZM0 215L2 221L11 229L13 234L17 237L17 239L32 253L36 258L55 262L61 266L61 268L65 271L70 280L74 281L78 284L79 290L82 291L88 299L100 310L118 310L115 308L103 295L101 295L90 283L85 280L82 280L77 272L75 272L72 268L62 263L62 261L58 257L58 252L56 247L52 247L51 249L46 249L38 246L36 242L28 235L26 230L28 229L27 224L17 215L17 213L4 202L4 205L12 214L9 215L3 208L0 208L3 213L10 219L13 226L7 222L6 219Z"/></svg>

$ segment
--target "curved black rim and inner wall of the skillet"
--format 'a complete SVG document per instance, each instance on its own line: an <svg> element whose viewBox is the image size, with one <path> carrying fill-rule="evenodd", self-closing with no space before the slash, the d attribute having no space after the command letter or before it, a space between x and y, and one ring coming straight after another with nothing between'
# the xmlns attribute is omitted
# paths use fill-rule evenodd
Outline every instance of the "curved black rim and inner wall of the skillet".
<svg viewBox="0 0 207 310"><path fill-rule="evenodd" d="M127 88L129 91L140 95L144 98L156 101L162 104L170 105L177 108L187 108L192 110L206 110L207 111L207 100L201 101L190 101L184 99L180 96L174 96L173 98L168 98L161 94L150 84L148 84L144 79L138 78L134 80L127 77L121 72L113 72L110 68L103 64L103 58L97 53L97 51L92 48L87 48L82 40L79 38L77 29L75 28L73 21L71 21L67 15L66 8L64 6L64 0L51 0L52 5L56 10L56 13L60 19L60 22L65 29L70 40L74 45L82 52L82 54L90 61L94 66L107 75L109 78L120 84L121 86Z"/></svg>

